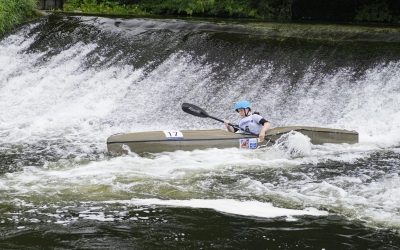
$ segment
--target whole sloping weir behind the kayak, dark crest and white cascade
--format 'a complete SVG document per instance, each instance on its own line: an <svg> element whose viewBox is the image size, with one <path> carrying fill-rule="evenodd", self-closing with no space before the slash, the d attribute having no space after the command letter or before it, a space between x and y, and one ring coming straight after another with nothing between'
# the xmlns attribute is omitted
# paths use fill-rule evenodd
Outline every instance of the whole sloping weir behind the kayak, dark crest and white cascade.
<svg viewBox="0 0 400 250"><path fill-rule="evenodd" d="M3 88L31 96L16 100L20 94L1 92L2 117L16 123L8 140L29 136L21 134L19 123L33 130L48 124L58 135L76 126L102 126L83 135L93 140L90 134L96 134L103 147L115 133L221 128L213 121L193 121L180 105L190 100L235 121L232 104L241 98L250 99L273 127L356 130L360 141L371 133L376 140L399 137L393 121L400 118L376 108L397 112L400 47L394 31L377 32L388 38L378 41L372 36L307 40L299 34L277 39L258 24L71 16L50 16L25 29L2 42ZM11 47L15 55L7 49L10 39L20 44ZM38 72L19 75L5 71L8 64L17 72L35 65ZM30 85L36 78L41 80ZM21 104L11 105L15 102ZM75 105L80 112L69 112ZM59 119L47 123L53 112ZM372 121L375 127L367 125ZM88 122L92 125L86 127Z"/></svg>

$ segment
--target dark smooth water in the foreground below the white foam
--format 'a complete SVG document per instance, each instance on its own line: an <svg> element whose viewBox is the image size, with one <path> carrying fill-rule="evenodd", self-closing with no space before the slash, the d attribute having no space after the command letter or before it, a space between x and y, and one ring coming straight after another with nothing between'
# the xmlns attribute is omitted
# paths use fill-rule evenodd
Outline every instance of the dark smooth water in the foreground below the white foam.
<svg viewBox="0 0 400 250"><path fill-rule="evenodd" d="M101 204L100 204L101 205ZM130 208L134 209L134 208ZM32 225L2 229L10 248L195 248L195 249L396 249L389 230L365 228L331 216L296 222L229 216L211 210L159 208L146 220L82 221L69 226Z"/></svg>

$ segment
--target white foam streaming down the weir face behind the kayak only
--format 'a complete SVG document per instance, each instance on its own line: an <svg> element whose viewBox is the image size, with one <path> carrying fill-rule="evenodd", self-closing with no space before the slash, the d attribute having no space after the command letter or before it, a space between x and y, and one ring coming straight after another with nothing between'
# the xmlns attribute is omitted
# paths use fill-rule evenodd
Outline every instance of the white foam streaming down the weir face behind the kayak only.
<svg viewBox="0 0 400 250"><path fill-rule="evenodd" d="M85 57L96 44L77 43L41 62L41 53L21 53L34 40L16 34L0 43L3 142L67 137L100 143L111 133L124 131L193 125L222 128L212 120L183 113L180 104L209 103L207 99L212 98L210 106L218 107L211 110L213 114L235 120L235 113L226 111L239 97L253 99L255 109L267 117L280 116L272 120L273 125L345 128L358 131L361 143L391 146L400 142L400 62L377 65L356 81L349 69L339 69L334 75L321 76L319 86L308 85L311 75L318 74L310 66L310 76L300 80L301 88L283 106L279 98L285 86L264 93L262 79L257 78L267 78L274 66L255 65L229 88L213 93L208 88L212 67L184 52L172 54L144 76L142 69L128 65L84 69ZM241 94L244 79L250 79L253 91Z"/></svg>

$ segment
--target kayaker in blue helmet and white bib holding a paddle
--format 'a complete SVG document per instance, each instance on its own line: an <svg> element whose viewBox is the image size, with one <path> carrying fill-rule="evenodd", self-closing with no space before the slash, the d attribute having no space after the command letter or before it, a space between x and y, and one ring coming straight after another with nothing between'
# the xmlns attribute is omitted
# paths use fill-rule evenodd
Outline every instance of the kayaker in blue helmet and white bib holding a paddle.
<svg viewBox="0 0 400 250"><path fill-rule="evenodd" d="M226 129L233 133L253 133L257 134L261 141L264 141L265 132L270 128L270 123L259 114L251 113L251 103L249 101L239 101L235 103L235 111L239 113L241 119L238 128L230 126L225 120Z"/></svg>

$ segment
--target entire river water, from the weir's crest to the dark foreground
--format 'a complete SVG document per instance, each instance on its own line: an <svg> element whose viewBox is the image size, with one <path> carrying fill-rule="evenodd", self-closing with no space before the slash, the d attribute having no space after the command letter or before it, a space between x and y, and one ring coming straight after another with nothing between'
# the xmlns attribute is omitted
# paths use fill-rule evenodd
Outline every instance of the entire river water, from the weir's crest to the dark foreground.
<svg viewBox="0 0 400 250"><path fill-rule="evenodd" d="M288 25L290 26L290 25ZM397 249L400 44L211 21L50 16L0 40L2 249ZM312 37L311 37L312 38ZM120 132L272 125L355 145L111 157Z"/></svg>

